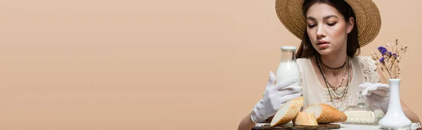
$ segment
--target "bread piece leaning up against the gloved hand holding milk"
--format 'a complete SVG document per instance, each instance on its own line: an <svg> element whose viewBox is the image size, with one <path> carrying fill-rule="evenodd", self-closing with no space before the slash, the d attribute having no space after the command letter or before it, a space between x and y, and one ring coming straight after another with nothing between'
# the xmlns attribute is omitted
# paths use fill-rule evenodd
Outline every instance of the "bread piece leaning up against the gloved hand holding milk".
<svg viewBox="0 0 422 130"><path fill-rule="evenodd" d="M293 119L295 119L296 115L300 112L300 108L303 106L303 97L300 96L298 98L292 99L287 101L277 110L276 115L274 115L273 119L271 120L270 125L272 127L279 125L279 124L286 124Z"/></svg>

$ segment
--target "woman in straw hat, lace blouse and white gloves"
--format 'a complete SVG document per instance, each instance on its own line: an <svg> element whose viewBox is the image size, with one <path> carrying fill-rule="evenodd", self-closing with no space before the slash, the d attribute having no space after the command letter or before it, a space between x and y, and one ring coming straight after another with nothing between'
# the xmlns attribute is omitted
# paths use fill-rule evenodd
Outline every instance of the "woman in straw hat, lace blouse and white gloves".
<svg viewBox="0 0 422 130"><path fill-rule="evenodd" d="M251 129L276 113L281 104L303 96L305 106L326 103L338 110L356 105L357 93L369 90L369 103L384 113L388 109L389 86L371 57L359 55L381 28L381 16L371 0L276 0L283 25L302 40L296 54L301 71L298 80L274 85L270 72L264 97L239 124ZM304 10L304 11L302 11ZM300 82L300 86L289 86ZM368 89L371 87L371 89ZM411 122L418 117L402 102Z"/></svg>

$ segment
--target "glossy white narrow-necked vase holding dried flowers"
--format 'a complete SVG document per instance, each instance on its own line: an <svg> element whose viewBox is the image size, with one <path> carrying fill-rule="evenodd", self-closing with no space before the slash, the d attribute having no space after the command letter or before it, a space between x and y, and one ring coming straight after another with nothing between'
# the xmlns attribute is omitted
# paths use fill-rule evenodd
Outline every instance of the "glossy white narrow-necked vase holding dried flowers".
<svg viewBox="0 0 422 130"><path fill-rule="evenodd" d="M400 79L388 79L390 85L390 103L385 116L378 123L382 129L409 129L411 121L404 115L400 103Z"/></svg>

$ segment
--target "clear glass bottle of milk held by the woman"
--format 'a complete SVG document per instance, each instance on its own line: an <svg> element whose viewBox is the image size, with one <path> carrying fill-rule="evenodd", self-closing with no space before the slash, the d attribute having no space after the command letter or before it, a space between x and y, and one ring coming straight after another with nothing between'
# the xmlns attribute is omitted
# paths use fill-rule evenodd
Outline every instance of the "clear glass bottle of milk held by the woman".
<svg viewBox="0 0 422 130"><path fill-rule="evenodd" d="M296 63L295 53L296 48L294 46L282 46L281 47L281 61L276 71L276 84L289 79L300 80L300 73L298 63ZM296 82L294 85L299 86L300 82Z"/></svg>

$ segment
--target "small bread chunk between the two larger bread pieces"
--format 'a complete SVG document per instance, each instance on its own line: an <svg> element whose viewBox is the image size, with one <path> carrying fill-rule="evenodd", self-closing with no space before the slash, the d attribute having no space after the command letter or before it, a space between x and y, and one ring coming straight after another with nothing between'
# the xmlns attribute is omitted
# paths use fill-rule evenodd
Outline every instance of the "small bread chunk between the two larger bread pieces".
<svg viewBox="0 0 422 130"><path fill-rule="evenodd" d="M318 126L314 113L299 112L293 122L298 126Z"/></svg>

